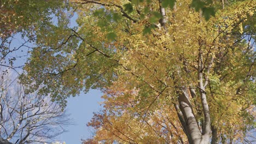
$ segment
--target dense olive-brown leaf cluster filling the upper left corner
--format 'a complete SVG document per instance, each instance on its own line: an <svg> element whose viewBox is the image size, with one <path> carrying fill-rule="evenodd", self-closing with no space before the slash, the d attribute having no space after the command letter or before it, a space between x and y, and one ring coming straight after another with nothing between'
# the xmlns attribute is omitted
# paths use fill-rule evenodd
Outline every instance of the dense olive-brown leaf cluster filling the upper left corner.
<svg viewBox="0 0 256 144"><path fill-rule="evenodd" d="M65 1L3 0L1 5L1 37L24 31L33 31L51 20L51 14L65 8Z"/></svg>

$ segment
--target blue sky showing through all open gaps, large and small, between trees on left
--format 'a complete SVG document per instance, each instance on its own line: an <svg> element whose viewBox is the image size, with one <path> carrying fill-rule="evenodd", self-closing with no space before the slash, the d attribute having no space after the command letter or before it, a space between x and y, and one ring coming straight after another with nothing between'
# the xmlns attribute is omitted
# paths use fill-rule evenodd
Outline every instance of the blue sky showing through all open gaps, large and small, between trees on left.
<svg viewBox="0 0 256 144"><path fill-rule="evenodd" d="M76 14L71 19L70 27L77 26L75 19L77 19ZM57 19L54 17L53 22L56 21ZM16 34L14 38L15 39L11 42L10 47L17 48L22 43L24 43L24 40L21 39L20 34ZM26 43L25 45L28 47L34 46L31 43ZM17 60L14 63L14 67L24 65L24 63L27 61L27 58L29 57L29 55L27 55L27 51L27 47L21 47L20 50L14 51L9 55L10 57L22 56L17 57ZM22 69L18 68L16 70L18 70L20 74L22 73ZM81 92L80 95L77 95L76 97L68 98L67 107L65 110L67 114L70 114L70 118L73 119L74 124L66 127L65 129L67 132L59 135L56 137L56 139L60 142L66 142L67 144L76 144L82 143L81 139L88 139L91 137L94 133L94 129L86 127L86 124L90 122L90 119L93 116L93 112L98 112L103 109L103 106L100 105L100 103L103 101L103 99L101 99L102 94L103 93L98 90L91 89L86 94Z"/></svg>

